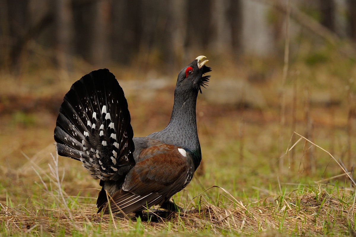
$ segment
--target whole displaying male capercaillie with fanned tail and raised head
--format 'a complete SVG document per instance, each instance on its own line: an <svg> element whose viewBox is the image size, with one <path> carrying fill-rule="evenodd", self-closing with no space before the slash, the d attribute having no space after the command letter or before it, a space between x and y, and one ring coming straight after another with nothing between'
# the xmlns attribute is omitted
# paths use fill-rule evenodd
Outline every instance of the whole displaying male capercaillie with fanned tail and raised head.
<svg viewBox="0 0 356 237"><path fill-rule="evenodd" d="M189 184L201 161L195 107L210 77L203 76L211 71L204 58L179 72L171 120L146 137L133 138L124 92L108 69L85 75L64 96L54 129L57 151L100 179L98 212L178 208L169 199Z"/></svg>

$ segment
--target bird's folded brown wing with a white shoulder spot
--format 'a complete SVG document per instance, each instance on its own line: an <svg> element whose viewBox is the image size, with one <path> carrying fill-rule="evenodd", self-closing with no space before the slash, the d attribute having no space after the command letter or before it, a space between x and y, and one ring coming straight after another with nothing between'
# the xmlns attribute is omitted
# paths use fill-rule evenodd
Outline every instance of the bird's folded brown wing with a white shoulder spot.
<svg viewBox="0 0 356 237"><path fill-rule="evenodd" d="M115 203L110 204L111 211L120 211L117 206L126 214L140 211L160 205L182 190L191 166L187 161L189 155L182 148L168 144L143 149L122 189L112 196ZM109 213L107 203L101 204L98 212L101 209Z"/></svg>

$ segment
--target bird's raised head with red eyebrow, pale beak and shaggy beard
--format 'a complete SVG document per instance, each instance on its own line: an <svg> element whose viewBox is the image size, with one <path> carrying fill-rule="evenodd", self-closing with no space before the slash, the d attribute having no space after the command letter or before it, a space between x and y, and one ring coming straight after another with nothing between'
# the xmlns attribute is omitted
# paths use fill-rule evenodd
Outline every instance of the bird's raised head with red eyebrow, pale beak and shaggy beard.
<svg viewBox="0 0 356 237"><path fill-rule="evenodd" d="M205 66L209 60L204 60L205 56L199 56L195 60L185 66L178 74L176 91L200 91L201 87L208 86L208 76L203 76L205 73L210 72L211 68Z"/></svg>

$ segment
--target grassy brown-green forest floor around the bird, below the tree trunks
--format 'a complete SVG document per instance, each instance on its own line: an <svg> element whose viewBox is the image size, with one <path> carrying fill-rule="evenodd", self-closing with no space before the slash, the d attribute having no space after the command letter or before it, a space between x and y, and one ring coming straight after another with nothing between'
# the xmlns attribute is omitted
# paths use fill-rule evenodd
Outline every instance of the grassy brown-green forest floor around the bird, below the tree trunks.
<svg viewBox="0 0 356 237"><path fill-rule="evenodd" d="M203 162L173 197L187 212L150 209L143 220L96 214L99 182L55 153L63 96L95 68L2 72L0 236L356 235L355 62L295 62L283 83L276 62L248 59L225 72L209 60L211 81L197 102ZM110 71L125 91L135 136L163 129L179 70L164 77ZM224 91L227 82L236 87ZM218 93L241 96L214 101Z"/></svg>

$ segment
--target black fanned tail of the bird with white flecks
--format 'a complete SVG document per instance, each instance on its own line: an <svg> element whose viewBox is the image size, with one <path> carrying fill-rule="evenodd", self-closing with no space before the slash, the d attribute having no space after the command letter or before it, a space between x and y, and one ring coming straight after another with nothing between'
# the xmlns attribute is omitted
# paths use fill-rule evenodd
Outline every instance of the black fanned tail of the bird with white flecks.
<svg viewBox="0 0 356 237"><path fill-rule="evenodd" d="M81 160L94 179L118 180L135 164L124 92L108 69L75 82L54 129L58 154Z"/></svg>

